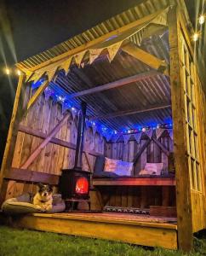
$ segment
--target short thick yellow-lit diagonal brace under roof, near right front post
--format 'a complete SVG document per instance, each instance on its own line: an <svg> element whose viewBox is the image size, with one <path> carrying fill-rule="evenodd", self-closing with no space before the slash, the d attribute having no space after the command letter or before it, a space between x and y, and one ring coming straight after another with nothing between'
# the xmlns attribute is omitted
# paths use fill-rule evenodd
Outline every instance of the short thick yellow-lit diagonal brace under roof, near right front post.
<svg viewBox="0 0 206 256"><path fill-rule="evenodd" d="M167 63L158 59L156 56L137 47L134 43L125 44L122 47L123 51L133 56L135 59L142 61L146 65L156 69L157 71L169 75Z"/></svg>

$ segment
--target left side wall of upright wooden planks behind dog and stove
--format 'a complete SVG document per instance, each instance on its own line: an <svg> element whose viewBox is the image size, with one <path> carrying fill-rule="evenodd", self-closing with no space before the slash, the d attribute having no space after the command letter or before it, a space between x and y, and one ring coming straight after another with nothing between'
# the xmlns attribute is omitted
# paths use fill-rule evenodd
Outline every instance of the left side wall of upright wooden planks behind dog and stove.
<svg viewBox="0 0 206 256"><path fill-rule="evenodd" d="M31 91L31 87L26 86L25 102L31 98L36 90ZM45 100L42 95L38 98L37 102L31 106L26 116L21 120L20 125L31 129L32 131L43 132L48 134L49 131L54 129L54 126L63 118L61 106L58 103L52 102L51 99ZM77 118L72 119L72 116L65 125L63 125L55 138L61 141L76 144L77 140ZM105 140L99 134L88 129L85 131L85 144L84 150L93 151L96 154L104 154ZM13 168L20 168L20 166L28 159L30 154L43 142L43 138L36 137L31 134L18 131L17 140L14 148L14 157L12 161ZM74 166L75 150L66 148L64 146L49 143L41 153L37 156L36 160L31 163L27 169L36 172L45 172L49 174L60 175L61 169L72 168ZM89 164L94 167L95 156L89 154ZM89 170L89 165L83 154L83 170ZM91 170L93 171L93 170ZM24 171L20 171L24 172ZM33 183L20 183L9 181L10 189L7 197L12 195L20 195L26 191L36 191L37 186Z"/></svg>

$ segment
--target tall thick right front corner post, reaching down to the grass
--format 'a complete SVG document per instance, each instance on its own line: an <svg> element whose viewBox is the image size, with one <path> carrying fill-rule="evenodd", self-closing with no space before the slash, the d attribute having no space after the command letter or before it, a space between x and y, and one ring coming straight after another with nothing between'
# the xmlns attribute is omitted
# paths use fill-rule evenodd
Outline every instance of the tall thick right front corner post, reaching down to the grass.
<svg viewBox="0 0 206 256"><path fill-rule="evenodd" d="M186 156L186 107L180 77L179 8L169 8L169 49L172 115L174 122L174 154L176 172L176 205L178 247L190 251L192 239L192 201L189 166Z"/></svg>

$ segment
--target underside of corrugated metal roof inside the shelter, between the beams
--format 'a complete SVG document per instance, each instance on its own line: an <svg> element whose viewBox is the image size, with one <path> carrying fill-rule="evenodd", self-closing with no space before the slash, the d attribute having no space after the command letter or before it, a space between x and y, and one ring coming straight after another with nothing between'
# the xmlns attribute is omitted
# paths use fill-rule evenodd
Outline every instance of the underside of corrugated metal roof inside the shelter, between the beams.
<svg viewBox="0 0 206 256"><path fill-rule="evenodd" d="M164 57L166 61L169 61L168 44L168 34L166 32L161 37L155 36L143 40L142 48L158 58ZM119 51L111 63L106 55L103 55L91 65L86 64L83 68L72 66L67 76L63 71L60 72L55 83L51 83L51 86L54 90L58 90L60 94L66 96L73 92L107 84L148 70L151 70L151 67L146 66L131 55ZM88 115L93 117L123 110L148 108L152 105L169 104L169 78L159 74L150 79L127 84L113 90L104 90L72 99L72 103L77 108L80 99L88 102ZM171 108L165 108L112 119L100 119L100 122L112 129L122 131L124 128L133 129L138 125L164 124L170 122L171 119Z"/></svg>

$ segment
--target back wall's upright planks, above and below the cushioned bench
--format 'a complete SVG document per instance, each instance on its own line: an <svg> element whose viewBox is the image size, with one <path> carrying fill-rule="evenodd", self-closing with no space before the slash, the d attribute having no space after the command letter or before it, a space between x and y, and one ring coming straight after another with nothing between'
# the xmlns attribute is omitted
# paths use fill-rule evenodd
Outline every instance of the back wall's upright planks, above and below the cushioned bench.
<svg viewBox="0 0 206 256"><path fill-rule="evenodd" d="M173 152L173 141L167 132L163 134L163 137L159 138L159 142L162 143L169 152ZM131 138L129 143L124 144L120 137L117 143L106 143L105 155L108 158L132 162L134 155L137 154L144 143L146 143L145 138L141 139L140 143L137 143ZM168 156L164 154L162 149L153 141L144 150L136 166L134 166L134 176L145 167L146 162L163 162L163 172L168 172ZM148 208L149 206L175 206L175 187L141 186L135 188L102 188L101 195L103 195L103 200L105 198L105 204L109 206L138 208ZM108 201L106 201L106 199Z"/></svg>

